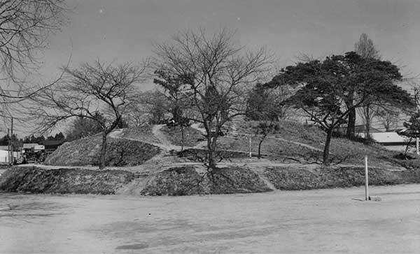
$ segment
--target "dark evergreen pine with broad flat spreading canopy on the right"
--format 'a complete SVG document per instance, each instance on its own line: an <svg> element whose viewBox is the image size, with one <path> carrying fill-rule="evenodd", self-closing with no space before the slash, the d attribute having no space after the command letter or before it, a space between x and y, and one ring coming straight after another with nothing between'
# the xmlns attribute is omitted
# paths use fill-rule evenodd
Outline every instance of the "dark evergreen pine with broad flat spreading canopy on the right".
<svg viewBox="0 0 420 254"><path fill-rule="evenodd" d="M323 61L297 63L281 70L267 87L290 85L297 92L284 103L303 110L327 133L323 163L329 163L329 144L334 128L346 122L349 112L367 102L412 107L414 102L401 87L397 66L389 61L365 59L356 52L332 55ZM346 99L353 96L349 107Z"/></svg>

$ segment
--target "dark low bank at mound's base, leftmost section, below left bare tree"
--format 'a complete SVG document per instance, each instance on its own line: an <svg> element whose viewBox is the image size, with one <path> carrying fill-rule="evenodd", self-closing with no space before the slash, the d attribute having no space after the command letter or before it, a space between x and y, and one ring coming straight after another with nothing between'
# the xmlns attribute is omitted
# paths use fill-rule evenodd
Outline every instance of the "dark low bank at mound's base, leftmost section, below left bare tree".
<svg viewBox="0 0 420 254"><path fill-rule="evenodd" d="M0 177L0 191L29 193L113 194L134 174L123 170L12 167Z"/></svg>

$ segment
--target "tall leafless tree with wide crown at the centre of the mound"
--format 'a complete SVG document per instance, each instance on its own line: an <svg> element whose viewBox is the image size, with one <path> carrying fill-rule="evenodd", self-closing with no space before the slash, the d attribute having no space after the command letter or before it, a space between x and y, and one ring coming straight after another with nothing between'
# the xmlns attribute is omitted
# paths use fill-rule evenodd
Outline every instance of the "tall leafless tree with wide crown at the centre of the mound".
<svg viewBox="0 0 420 254"><path fill-rule="evenodd" d="M177 33L168 43L155 45L155 69L182 79L183 98L193 107L204 125L207 139L205 164L216 167L214 153L222 126L244 114L246 92L272 62L265 48L247 51L234 42L228 29L207 33L204 29Z"/></svg>

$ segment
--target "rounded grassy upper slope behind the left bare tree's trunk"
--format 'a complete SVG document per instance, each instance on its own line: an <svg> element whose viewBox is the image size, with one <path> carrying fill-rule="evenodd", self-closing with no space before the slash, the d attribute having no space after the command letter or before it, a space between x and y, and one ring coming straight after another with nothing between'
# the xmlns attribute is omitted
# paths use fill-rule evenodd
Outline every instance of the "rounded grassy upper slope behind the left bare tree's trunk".
<svg viewBox="0 0 420 254"><path fill-rule="evenodd" d="M45 160L46 165L82 166L98 165L101 136L94 135L81 140L66 142ZM134 166L160 153L152 144L134 140L108 139L106 165Z"/></svg>

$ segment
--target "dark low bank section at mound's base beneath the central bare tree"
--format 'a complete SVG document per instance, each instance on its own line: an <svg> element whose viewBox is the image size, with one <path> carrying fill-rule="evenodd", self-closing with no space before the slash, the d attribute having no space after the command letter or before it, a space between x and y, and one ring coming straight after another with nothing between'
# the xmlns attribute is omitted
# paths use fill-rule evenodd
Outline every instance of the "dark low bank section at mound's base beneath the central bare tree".
<svg viewBox="0 0 420 254"><path fill-rule="evenodd" d="M172 167L152 177L141 195L197 195L272 191L246 168L223 167L200 176L193 167Z"/></svg>

